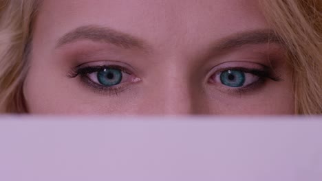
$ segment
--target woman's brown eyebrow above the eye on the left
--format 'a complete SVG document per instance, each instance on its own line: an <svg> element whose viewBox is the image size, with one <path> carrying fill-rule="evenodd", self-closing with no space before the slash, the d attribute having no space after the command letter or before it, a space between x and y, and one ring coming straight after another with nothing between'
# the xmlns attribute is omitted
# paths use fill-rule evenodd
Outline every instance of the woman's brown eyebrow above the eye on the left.
<svg viewBox="0 0 322 181"><path fill-rule="evenodd" d="M59 38L57 47L74 43L78 40L92 40L94 42L102 42L116 45L125 49L146 49L147 45L140 38L133 37L129 34L118 32L109 27L100 27L87 25L78 27Z"/></svg>

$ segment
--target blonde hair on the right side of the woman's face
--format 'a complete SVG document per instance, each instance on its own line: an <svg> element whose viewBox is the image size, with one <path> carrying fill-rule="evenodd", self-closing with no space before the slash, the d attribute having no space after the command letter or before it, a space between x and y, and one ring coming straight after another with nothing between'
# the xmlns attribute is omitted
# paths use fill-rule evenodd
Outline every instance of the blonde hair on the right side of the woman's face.
<svg viewBox="0 0 322 181"><path fill-rule="evenodd" d="M293 69L295 112L322 114L322 1L260 1Z"/></svg>

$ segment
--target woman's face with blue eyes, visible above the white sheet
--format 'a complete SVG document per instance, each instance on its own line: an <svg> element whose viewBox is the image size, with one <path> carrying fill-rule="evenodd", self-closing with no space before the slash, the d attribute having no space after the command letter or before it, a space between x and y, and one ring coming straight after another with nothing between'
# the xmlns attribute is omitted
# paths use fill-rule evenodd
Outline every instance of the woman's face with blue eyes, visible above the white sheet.
<svg viewBox="0 0 322 181"><path fill-rule="evenodd" d="M45 0L34 28L31 113L294 113L255 0Z"/></svg>

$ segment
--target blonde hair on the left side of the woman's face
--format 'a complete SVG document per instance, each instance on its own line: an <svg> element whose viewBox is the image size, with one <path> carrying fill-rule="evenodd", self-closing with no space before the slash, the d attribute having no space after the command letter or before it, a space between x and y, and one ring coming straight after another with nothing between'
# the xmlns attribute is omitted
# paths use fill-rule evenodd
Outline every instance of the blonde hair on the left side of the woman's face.
<svg viewBox="0 0 322 181"><path fill-rule="evenodd" d="M32 22L38 3L0 1L0 112L27 112L23 80L28 71Z"/></svg>

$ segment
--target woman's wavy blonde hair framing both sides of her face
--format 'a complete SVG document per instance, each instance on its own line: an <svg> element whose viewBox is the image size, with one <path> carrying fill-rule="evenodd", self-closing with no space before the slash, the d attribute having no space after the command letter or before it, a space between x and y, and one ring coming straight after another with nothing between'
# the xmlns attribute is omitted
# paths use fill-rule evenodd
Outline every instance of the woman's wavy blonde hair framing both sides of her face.
<svg viewBox="0 0 322 181"><path fill-rule="evenodd" d="M288 49L295 112L322 113L322 2L260 0L264 16ZM28 112L23 81L28 72L37 0L0 1L0 112Z"/></svg>

